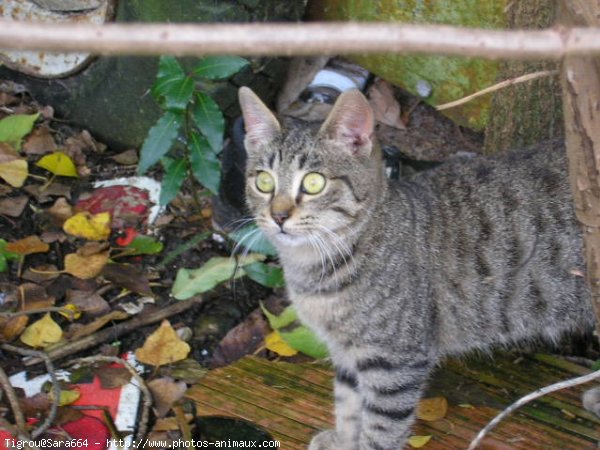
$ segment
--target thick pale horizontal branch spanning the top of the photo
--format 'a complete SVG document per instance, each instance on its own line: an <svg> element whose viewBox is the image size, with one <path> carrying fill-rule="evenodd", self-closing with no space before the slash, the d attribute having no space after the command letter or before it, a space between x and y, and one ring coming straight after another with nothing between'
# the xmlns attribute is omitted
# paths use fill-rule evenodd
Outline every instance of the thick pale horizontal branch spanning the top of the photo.
<svg viewBox="0 0 600 450"><path fill-rule="evenodd" d="M398 23L56 24L0 21L0 48L103 55L445 54L485 59L600 55L600 29L484 30Z"/></svg>

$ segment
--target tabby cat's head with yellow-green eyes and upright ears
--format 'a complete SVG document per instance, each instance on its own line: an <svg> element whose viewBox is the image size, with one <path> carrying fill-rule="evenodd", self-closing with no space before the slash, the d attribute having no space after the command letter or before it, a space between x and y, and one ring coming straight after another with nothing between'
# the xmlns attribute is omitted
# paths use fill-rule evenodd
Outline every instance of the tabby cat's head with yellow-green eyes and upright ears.
<svg viewBox="0 0 600 450"><path fill-rule="evenodd" d="M248 153L246 201L278 247L329 246L359 231L385 184L373 111L340 95L318 132L285 129L248 88L239 91Z"/></svg>

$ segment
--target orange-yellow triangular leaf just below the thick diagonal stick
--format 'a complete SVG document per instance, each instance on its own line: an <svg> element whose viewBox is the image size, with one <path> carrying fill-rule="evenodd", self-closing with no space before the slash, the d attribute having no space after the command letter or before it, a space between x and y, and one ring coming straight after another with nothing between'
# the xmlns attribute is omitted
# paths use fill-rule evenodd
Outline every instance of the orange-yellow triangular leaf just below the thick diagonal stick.
<svg viewBox="0 0 600 450"><path fill-rule="evenodd" d="M163 366L185 359L190 346L182 341L168 320L152 333L141 348L135 351L138 361L151 366Z"/></svg>

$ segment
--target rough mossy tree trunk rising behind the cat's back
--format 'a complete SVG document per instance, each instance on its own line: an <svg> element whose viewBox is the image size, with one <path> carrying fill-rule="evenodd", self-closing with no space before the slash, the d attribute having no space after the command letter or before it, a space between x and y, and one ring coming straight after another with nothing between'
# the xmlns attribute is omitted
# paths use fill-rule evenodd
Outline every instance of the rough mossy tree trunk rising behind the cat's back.
<svg viewBox="0 0 600 450"><path fill-rule="evenodd" d="M512 2L507 11L514 29L541 29L555 22L554 0ZM499 81L543 70L556 75L497 91L485 132L484 153L493 154L564 135L558 64L555 62L506 61Z"/></svg>

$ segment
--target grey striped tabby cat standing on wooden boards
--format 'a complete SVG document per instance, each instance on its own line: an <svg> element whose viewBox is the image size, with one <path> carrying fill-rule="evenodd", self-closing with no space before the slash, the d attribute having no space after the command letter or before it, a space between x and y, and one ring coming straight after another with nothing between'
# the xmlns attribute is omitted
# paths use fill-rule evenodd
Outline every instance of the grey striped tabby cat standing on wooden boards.
<svg viewBox="0 0 600 450"><path fill-rule="evenodd" d="M310 450L404 448L440 358L593 326L560 143L389 181L359 91L316 133L239 98L249 209L336 368Z"/></svg>

